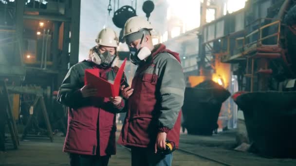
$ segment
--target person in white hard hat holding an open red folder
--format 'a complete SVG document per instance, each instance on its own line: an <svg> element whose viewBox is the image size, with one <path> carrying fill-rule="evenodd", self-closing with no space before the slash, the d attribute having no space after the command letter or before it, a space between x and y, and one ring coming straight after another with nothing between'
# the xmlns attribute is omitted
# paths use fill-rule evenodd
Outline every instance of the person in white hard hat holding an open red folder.
<svg viewBox="0 0 296 166"><path fill-rule="evenodd" d="M71 166L107 166L115 154L115 114L123 110L122 97L100 98L100 89L84 85L85 69L99 69L98 76L114 81L118 37L103 29L96 38L89 59L72 66L59 88L57 101L68 106L68 131L63 151L70 153ZM121 85L127 84L125 75ZM102 87L104 88L104 87Z"/></svg>

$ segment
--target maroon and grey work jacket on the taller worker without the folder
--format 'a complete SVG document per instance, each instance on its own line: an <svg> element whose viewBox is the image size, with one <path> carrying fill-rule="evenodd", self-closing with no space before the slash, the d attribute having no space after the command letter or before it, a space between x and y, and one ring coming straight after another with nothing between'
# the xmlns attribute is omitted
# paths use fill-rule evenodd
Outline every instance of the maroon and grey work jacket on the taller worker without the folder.
<svg viewBox="0 0 296 166"><path fill-rule="evenodd" d="M185 79L179 54L159 44L132 80L133 94L118 143L153 148L158 132L179 147Z"/></svg>

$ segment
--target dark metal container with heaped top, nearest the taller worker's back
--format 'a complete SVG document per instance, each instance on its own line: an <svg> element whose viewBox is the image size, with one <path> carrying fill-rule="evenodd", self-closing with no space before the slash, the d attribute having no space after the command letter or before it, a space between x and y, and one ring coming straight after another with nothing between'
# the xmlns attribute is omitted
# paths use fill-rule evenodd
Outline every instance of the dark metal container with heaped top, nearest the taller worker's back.
<svg viewBox="0 0 296 166"><path fill-rule="evenodd" d="M204 83L204 82L203 82ZM218 116L224 102L230 93L222 86L211 86L185 89L185 100L182 108L183 127L188 134L212 135L218 128Z"/></svg>

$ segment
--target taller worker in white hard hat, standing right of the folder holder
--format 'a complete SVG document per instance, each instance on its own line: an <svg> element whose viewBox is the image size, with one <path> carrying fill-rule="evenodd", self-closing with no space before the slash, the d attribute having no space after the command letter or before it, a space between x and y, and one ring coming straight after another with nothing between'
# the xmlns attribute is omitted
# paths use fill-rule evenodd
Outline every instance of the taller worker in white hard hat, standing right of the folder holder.
<svg viewBox="0 0 296 166"><path fill-rule="evenodd" d="M122 86L128 113L118 143L131 148L132 166L171 166L178 149L185 79L179 54L153 46L152 26L131 17L124 27L130 61L138 66L131 87Z"/></svg>

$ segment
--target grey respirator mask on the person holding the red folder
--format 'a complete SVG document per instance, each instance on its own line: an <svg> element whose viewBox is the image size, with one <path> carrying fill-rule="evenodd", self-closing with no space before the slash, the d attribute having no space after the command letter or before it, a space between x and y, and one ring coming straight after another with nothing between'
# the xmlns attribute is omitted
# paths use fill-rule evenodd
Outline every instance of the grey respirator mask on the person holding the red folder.
<svg viewBox="0 0 296 166"><path fill-rule="evenodd" d="M92 53L92 62L99 66L102 66L103 68L113 66L112 64L115 64L115 59L116 54L111 55L109 51L105 51L101 54L98 50L95 50Z"/></svg>

